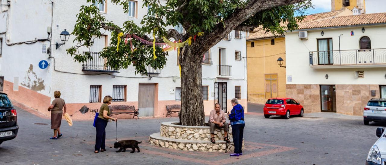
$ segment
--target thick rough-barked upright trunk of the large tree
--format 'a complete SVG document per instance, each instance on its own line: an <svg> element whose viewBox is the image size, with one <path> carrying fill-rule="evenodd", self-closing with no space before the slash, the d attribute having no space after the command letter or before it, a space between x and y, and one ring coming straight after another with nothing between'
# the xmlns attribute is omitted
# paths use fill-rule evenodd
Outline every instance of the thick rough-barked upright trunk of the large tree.
<svg viewBox="0 0 386 165"><path fill-rule="evenodd" d="M195 50L195 51L191 51ZM205 126L204 104L202 100L203 55L191 47L181 52L181 111L179 121L186 126Z"/></svg>

